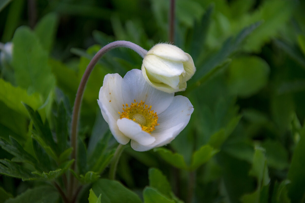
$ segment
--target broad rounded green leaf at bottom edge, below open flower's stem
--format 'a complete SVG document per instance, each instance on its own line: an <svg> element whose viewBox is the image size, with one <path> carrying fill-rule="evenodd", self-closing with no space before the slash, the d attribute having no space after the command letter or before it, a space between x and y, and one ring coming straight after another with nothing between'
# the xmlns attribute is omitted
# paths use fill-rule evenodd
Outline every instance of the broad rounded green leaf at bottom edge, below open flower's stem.
<svg viewBox="0 0 305 203"><path fill-rule="evenodd" d="M92 189L95 194L101 194L103 203L142 203L138 195L115 180L100 179Z"/></svg>

